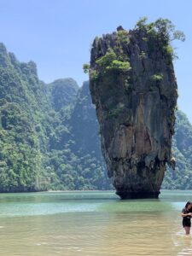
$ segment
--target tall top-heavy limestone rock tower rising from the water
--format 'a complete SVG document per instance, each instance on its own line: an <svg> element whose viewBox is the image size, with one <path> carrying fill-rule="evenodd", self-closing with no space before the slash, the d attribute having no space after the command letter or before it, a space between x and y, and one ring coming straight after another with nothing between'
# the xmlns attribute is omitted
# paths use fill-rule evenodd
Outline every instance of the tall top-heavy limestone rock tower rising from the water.
<svg viewBox="0 0 192 256"><path fill-rule="evenodd" d="M172 160L177 82L172 48L157 29L137 27L93 42L90 94L102 154L122 198L157 198Z"/></svg>

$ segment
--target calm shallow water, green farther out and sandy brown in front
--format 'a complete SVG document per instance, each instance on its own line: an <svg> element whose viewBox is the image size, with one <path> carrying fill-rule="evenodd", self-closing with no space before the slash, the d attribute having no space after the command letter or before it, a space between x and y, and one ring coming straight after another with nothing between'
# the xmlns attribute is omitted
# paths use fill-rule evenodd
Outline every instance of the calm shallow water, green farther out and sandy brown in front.
<svg viewBox="0 0 192 256"><path fill-rule="evenodd" d="M0 194L0 255L192 255L180 217L189 200L189 190L132 201L112 191Z"/></svg>

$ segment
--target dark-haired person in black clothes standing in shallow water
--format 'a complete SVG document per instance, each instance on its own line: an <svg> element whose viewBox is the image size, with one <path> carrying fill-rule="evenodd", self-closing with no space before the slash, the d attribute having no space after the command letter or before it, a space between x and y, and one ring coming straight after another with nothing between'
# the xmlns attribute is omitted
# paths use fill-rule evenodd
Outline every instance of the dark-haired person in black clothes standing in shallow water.
<svg viewBox="0 0 192 256"><path fill-rule="evenodd" d="M190 226L191 226L190 219L192 216L192 212L190 212L191 208L192 208L192 202L188 201L181 213L181 216L183 217L183 228L185 230L186 235L190 234Z"/></svg>

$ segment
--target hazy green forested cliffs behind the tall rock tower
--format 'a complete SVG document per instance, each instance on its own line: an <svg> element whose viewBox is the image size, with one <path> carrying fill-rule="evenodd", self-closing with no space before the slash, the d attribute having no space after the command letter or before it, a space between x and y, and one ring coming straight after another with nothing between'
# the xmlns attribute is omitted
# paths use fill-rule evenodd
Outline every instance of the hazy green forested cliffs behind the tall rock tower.
<svg viewBox="0 0 192 256"><path fill-rule="evenodd" d="M34 62L20 62L0 44L0 191L112 189L102 158L89 83L45 84ZM177 111L176 171L163 188L192 189L192 127Z"/></svg>

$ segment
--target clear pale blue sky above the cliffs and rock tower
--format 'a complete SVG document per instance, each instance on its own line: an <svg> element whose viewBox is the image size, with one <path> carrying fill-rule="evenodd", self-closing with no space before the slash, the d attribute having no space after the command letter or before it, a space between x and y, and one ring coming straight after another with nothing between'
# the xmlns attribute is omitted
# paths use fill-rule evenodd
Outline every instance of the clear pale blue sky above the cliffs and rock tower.
<svg viewBox="0 0 192 256"><path fill-rule="evenodd" d="M184 43L174 43L174 66L178 107L192 123L191 0L0 0L0 42L19 61L35 61L45 82L72 77L81 86L93 38L119 25L130 29L143 16L170 19L186 35Z"/></svg>

